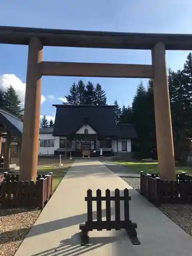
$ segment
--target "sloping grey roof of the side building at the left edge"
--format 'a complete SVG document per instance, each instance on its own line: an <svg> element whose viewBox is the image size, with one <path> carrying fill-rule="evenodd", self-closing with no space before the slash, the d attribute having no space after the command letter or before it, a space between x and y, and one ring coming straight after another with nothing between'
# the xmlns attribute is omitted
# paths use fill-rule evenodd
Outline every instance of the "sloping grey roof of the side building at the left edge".
<svg viewBox="0 0 192 256"><path fill-rule="evenodd" d="M22 137L23 121L8 111L0 109L0 123L12 136Z"/></svg>

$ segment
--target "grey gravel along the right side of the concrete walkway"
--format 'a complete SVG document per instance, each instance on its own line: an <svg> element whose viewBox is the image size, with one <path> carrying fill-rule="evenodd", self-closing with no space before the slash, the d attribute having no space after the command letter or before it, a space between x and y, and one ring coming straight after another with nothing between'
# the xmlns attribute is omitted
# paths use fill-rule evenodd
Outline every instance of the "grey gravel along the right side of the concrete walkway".
<svg viewBox="0 0 192 256"><path fill-rule="evenodd" d="M140 178L121 177L134 189L140 189ZM163 204L159 209L170 220L192 236L192 205L189 204Z"/></svg>

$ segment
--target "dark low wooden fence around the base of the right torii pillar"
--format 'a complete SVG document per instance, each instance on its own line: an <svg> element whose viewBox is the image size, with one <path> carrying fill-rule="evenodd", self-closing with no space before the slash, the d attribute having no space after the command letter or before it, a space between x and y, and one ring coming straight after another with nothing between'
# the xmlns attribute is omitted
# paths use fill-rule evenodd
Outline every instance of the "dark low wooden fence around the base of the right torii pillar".
<svg viewBox="0 0 192 256"><path fill-rule="evenodd" d="M176 180L161 180L158 174L140 173L140 194L159 207L161 204L191 204L192 177L181 173Z"/></svg>

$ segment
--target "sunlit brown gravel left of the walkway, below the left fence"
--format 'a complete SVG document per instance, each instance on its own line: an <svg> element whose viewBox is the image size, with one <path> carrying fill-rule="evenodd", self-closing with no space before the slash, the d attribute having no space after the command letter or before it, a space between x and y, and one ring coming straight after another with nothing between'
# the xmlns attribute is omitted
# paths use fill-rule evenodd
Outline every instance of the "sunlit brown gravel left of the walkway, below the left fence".
<svg viewBox="0 0 192 256"><path fill-rule="evenodd" d="M38 209L0 208L0 256L13 256L38 218Z"/></svg>

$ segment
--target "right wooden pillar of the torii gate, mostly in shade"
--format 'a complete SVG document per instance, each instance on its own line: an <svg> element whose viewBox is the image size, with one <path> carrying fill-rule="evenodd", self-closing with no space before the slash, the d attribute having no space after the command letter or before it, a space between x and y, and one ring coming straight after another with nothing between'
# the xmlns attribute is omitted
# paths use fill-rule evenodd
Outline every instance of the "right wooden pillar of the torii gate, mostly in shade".
<svg viewBox="0 0 192 256"><path fill-rule="evenodd" d="M175 157L170 115L170 100L165 60L165 46L159 42L152 50L154 67L153 91L159 175L162 179L175 180Z"/></svg>

